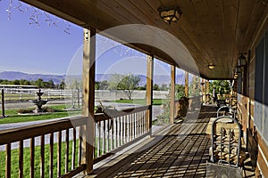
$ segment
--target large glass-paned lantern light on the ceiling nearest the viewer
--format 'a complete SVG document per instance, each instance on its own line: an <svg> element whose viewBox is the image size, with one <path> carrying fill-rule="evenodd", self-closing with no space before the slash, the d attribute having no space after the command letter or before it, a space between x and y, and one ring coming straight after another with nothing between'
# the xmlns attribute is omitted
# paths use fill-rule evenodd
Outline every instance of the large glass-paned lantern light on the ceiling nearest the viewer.
<svg viewBox="0 0 268 178"><path fill-rule="evenodd" d="M159 7L157 9L159 12L160 17L167 23L171 25L172 21L179 21L182 12L180 7L172 6L172 7Z"/></svg>

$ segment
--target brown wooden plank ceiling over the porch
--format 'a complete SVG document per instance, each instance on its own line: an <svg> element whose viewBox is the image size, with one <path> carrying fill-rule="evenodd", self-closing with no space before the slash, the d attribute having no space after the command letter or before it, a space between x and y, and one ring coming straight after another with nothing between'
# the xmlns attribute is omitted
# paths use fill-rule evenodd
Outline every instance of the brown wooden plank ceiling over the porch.
<svg viewBox="0 0 268 178"><path fill-rule="evenodd" d="M180 39L197 63L200 76L208 79L231 78L240 52L247 52L258 32L266 4L262 0L22 0L81 27L92 26L98 31L126 24L146 24L162 28ZM178 22L165 23L157 12L159 7L177 5L183 13ZM150 33L147 31L147 33ZM126 36L131 36L127 31ZM121 38L124 36L116 36ZM111 37L111 36L110 36ZM165 45L171 41L159 34L135 36L157 38ZM174 59L174 55L148 44L130 44L157 58L192 70L189 57ZM172 46L172 45L171 45ZM179 48L178 48L179 49ZM180 50L179 50L180 52ZM178 55L177 55L178 56ZM181 59L182 58L182 59ZM208 69L213 63L215 68Z"/></svg>

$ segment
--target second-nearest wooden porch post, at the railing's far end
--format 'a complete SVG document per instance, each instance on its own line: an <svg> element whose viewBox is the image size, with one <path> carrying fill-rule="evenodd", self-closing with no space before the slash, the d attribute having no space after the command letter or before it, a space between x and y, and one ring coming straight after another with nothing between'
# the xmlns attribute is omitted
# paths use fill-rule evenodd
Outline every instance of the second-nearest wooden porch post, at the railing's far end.
<svg viewBox="0 0 268 178"><path fill-rule="evenodd" d="M152 134L154 56L147 55L147 131Z"/></svg>

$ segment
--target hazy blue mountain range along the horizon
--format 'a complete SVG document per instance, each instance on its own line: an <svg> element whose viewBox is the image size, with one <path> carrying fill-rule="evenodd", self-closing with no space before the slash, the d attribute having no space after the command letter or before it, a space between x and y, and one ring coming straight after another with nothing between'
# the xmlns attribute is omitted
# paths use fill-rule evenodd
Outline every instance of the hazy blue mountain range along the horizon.
<svg viewBox="0 0 268 178"><path fill-rule="evenodd" d="M101 82L104 80L109 80L113 74L96 74L96 81ZM5 80L29 80L35 81L38 78L43 79L44 81L52 80L54 84L60 84L64 79L65 75L46 75L46 74L28 74L18 71L4 71L0 72L0 79ZM138 75L140 78L139 85L146 85L147 84L147 77L145 75ZM80 77L78 77L80 78ZM155 75L154 76L154 84L157 85L169 85L171 77L165 75ZM184 73L179 73L176 75L176 84L183 85L184 84Z"/></svg>

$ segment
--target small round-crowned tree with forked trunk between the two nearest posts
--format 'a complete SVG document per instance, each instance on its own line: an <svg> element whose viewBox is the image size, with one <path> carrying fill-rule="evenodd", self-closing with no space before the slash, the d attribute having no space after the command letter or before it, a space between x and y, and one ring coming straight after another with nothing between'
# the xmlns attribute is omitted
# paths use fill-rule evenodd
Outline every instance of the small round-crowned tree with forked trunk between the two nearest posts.
<svg viewBox="0 0 268 178"><path fill-rule="evenodd" d="M140 78L132 74L123 77L117 85L118 90L126 90L128 93L128 98L131 100L131 95L135 89L138 88L138 83Z"/></svg>

